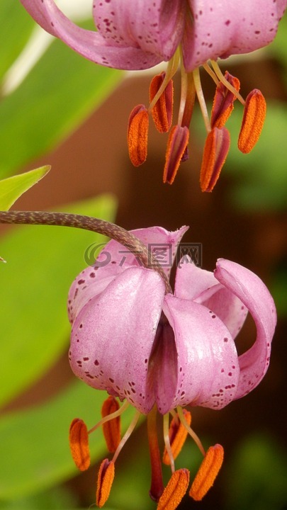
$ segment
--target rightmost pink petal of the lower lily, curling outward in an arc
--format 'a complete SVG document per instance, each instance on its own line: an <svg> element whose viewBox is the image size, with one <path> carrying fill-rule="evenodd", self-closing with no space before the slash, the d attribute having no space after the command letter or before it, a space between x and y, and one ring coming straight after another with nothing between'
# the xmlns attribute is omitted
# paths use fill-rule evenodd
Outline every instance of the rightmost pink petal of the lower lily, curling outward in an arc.
<svg viewBox="0 0 287 510"><path fill-rule="evenodd" d="M276 326L274 300L264 283L249 269L220 259L215 278L246 305L257 327L253 346L239 357L240 380L235 398L244 397L256 387L269 366L271 341Z"/></svg>

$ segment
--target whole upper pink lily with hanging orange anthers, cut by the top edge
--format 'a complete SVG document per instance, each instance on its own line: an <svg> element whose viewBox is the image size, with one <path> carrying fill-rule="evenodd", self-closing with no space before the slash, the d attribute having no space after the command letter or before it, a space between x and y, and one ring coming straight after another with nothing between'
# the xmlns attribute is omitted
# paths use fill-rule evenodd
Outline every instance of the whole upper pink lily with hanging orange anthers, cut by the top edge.
<svg viewBox="0 0 287 510"><path fill-rule="evenodd" d="M138 166L147 157L151 114L160 132L169 131L164 182L172 183L179 164L188 159L189 125L195 97L206 125L206 145L201 165L201 188L212 191L230 147L225 122L236 98L244 105L239 149L249 152L259 139L266 113L261 92L254 89L246 99L240 82L222 74L217 60L249 53L268 45L275 37L286 0L95 0L93 15L97 32L74 25L53 0L21 0L31 16L47 32L62 39L80 55L116 69L147 69L168 62L167 70L154 77L150 106L139 105L130 115L128 149ZM181 64L181 103L172 124L172 77ZM199 67L215 81L211 117L201 89Z"/></svg>

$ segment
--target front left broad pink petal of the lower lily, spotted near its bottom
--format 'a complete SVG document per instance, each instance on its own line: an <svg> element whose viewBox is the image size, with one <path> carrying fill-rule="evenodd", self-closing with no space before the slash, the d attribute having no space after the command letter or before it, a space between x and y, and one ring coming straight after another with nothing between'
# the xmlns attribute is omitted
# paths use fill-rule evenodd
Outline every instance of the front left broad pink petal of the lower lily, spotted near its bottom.
<svg viewBox="0 0 287 510"><path fill-rule="evenodd" d="M72 327L69 358L75 375L126 398L144 414L154 404L147 368L164 290L158 273L130 267L86 303Z"/></svg>

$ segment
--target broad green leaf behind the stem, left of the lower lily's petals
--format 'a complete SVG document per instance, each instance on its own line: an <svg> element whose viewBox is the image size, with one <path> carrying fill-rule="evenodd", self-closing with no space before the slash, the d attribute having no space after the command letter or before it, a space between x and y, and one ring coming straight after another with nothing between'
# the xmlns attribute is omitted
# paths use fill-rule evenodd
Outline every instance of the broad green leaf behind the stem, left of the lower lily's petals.
<svg viewBox="0 0 287 510"><path fill-rule="evenodd" d="M100 196L64 208L111 220L115 203ZM86 266L84 253L103 237L79 229L14 227L1 239L0 338L1 392L4 404L49 368L69 342L67 293Z"/></svg>

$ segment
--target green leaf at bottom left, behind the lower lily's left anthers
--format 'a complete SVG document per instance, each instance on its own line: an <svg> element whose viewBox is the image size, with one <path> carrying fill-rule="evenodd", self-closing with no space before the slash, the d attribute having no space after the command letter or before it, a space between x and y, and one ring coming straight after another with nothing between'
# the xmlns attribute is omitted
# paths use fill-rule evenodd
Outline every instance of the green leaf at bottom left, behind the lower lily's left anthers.
<svg viewBox="0 0 287 510"><path fill-rule="evenodd" d="M17 499L78 475L69 451L69 425L76 416L81 416L88 428L96 424L103 399L106 392L75 381L50 402L3 416L0 498ZM123 413L123 429L134 412L129 407ZM89 443L93 461L107 455L101 428L91 434Z"/></svg>

